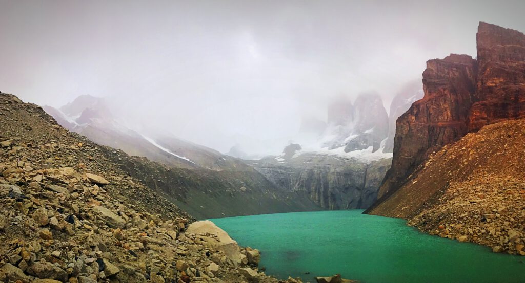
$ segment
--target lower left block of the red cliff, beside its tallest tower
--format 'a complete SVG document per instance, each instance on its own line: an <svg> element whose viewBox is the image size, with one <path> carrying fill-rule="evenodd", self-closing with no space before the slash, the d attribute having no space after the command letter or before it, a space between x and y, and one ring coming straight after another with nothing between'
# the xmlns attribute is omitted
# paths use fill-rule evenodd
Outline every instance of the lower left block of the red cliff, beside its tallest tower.
<svg viewBox="0 0 525 283"><path fill-rule="evenodd" d="M466 55L429 60L425 96L397 119L394 157L380 196L396 188L428 154L468 132L468 109L476 90L476 61Z"/></svg>

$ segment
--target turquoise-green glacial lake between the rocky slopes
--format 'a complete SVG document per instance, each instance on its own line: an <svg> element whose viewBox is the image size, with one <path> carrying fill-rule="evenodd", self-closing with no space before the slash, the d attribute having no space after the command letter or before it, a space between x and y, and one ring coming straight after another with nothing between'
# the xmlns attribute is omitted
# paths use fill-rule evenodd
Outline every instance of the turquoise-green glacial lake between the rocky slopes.
<svg viewBox="0 0 525 283"><path fill-rule="evenodd" d="M362 210L212 219L280 279L340 273L362 283L525 282L525 256L418 232L404 220ZM310 273L310 274L306 274Z"/></svg>

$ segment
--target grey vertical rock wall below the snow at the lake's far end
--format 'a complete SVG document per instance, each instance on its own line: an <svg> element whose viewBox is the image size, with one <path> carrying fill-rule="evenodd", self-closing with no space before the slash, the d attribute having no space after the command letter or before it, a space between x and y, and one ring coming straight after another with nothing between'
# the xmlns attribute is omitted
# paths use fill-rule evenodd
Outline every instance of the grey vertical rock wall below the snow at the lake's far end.
<svg viewBox="0 0 525 283"><path fill-rule="evenodd" d="M251 161L254 168L282 191L303 195L325 209L362 209L377 199L391 159L370 164L328 155L303 154L276 162Z"/></svg>

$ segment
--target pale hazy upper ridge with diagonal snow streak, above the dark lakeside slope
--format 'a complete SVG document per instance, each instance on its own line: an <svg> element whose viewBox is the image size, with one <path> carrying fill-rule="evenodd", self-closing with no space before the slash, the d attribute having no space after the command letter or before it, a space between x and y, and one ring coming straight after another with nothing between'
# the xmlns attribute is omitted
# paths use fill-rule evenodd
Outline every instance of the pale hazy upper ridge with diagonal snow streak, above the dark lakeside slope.
<svg viewBox="0 0 525 283"><path fill-rule="evenodd" d="M56 109L43 107L67 129L125 153L147 157L176 168L205 168L210 170L243 170L246 165L235 158L220 154L205 146L169 135L138 133L121 125L106 100L81 95Z"/></svg>

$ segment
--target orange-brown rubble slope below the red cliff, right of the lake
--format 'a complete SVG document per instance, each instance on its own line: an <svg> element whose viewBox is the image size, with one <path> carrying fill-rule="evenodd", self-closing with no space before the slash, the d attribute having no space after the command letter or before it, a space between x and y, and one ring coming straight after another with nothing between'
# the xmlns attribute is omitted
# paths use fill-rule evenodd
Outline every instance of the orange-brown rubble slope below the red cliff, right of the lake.
<svg viewBox="0 0 525 283"><path fill-rule="evenodd" d="M525 120L469 133L430 156L373 212L442 237L525 255Z"/></svg>

